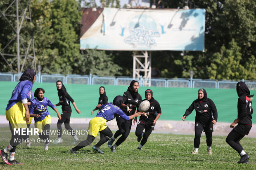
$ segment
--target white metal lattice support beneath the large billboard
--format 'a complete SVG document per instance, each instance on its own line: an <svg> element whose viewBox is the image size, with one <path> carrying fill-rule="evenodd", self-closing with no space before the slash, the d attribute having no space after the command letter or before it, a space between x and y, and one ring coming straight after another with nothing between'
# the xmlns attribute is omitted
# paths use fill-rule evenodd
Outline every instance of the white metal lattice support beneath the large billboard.
<svg viewBox="0 0 256 170"><path fill-rule="evenodd" d="M135 55L136 52L133 52L133 79L140 79L140 72L144 72L142 77L144 80L144 86L151 86L151 51L141 51L143 55ZM144 63L143 63L144 59Z"/></svg>

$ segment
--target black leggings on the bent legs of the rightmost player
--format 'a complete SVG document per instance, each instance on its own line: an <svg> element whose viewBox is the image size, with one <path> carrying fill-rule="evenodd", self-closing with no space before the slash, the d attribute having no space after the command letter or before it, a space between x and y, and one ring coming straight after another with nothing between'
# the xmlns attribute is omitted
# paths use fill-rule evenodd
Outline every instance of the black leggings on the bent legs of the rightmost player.
<svg viewBox="0 0 256 170"><path fill-rule="evenodd" d="M243 147L240 144L240 140L244 137L245 135L241 135L240 133L237 133L234 129L231 130L231 132L228 134L226 138L226 142L235 149L238 154L242 152Z"/></svg>

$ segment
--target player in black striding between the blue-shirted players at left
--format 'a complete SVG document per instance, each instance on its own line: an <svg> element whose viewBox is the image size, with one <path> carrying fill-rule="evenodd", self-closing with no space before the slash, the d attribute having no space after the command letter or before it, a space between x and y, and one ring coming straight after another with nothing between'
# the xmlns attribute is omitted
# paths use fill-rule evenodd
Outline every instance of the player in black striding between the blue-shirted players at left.
<svg viewBox="0 0 256 170"><path fill-rule="evenodd" d="M55 106L60 106L62 105L62 119L58 120L57 122L57 128L58 128L58 142L59 143L62 141L62 123L64 123L64 126L66 128L66 130L68 130L71 135L74 138L74 142L72 144L76 144L76 142L79 141L78 137L73 134L73 129L71 128L69 122L70 122L70 116L71 116L71 106L70 106L70 102L73 104L73 106L76 109L76 112L78 114L81 114L81 111L78 110L78 108L76 107L76 103L74 102L74 100L71 98L71 96L69 95L69 93L66 91L65 86L62 84L62 81L58 80L56 82L56 86L57 86L57 90L58 90L58 96L59 96L59 103L57 103Z"/></svg>

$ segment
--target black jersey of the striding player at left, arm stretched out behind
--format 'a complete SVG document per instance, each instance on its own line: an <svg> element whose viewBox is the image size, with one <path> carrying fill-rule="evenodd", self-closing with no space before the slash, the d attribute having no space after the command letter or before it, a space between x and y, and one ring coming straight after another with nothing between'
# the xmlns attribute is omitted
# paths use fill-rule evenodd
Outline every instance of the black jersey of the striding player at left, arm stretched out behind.
<svg viewBox="0 0 256 170"><path fill-rule="evenodd" d="M67 92L66 92L66 95L64 95L62 91L58 91L58 95L59 95L59 103L62 105L62 113L64 113L65 117L69 119L72 112L70 102L73 103L74 100L71 98L71 96Z"/></svg>

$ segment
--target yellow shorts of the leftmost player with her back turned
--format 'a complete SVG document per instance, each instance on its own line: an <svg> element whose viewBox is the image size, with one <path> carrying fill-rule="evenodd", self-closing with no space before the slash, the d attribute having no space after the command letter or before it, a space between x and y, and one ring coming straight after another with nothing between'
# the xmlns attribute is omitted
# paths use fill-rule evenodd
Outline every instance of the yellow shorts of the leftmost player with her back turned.
<svg viewBox="0 0 256 170"><path fill-rule="evenodd" d="M10 121L12 129L28 128L25 119L25 107L21 101L17 102L11 108L5 111L7 121Z"/></svg>

